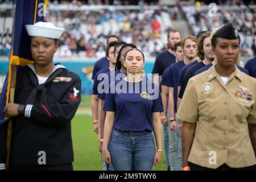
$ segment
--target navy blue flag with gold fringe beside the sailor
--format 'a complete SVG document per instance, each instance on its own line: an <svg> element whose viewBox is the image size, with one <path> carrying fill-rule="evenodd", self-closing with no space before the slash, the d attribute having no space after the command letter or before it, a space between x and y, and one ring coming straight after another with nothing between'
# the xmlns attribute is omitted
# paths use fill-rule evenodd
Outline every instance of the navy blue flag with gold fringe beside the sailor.
<svg viewBox="0 0 256 182"><path fill-rule="evenodd" d="M25 24L35 24L44 21L47 0L18 0L15 5L13 47L11 49L9 70L3 84L0 98L0 126L6 122L5 105L10 102L10 86L12 66L16 65L17 70L22 69L32 61L30 51L30 36L28 36Z"/></svg>

